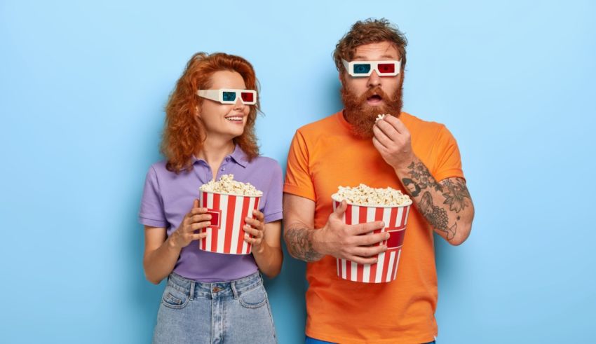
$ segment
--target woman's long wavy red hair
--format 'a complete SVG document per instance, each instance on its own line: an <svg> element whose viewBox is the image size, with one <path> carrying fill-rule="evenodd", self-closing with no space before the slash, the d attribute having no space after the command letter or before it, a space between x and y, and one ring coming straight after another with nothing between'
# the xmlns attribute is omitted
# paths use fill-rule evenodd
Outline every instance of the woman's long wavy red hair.
<svg viewBox="0 0 596 344"><path fill-rule="evenodd" d="M168 160L165 165L168 171L180 173L182 170L192 170L192 156L205 142L202 134L205 128L196 112L196 109L200 111L203 98L198 97L196 91L208 90L211 76L216 71L222 70L238 72L244 79L246 88L256 90L258 94L259 86L255 69L247 60L225 53L194 54L165 106L161 153ZM234 144L240 146L249 160L259 156L257 135L255 135L257 111L260 111L258 97L257 104L250 105L243 134L233 139Z"/></svg>

